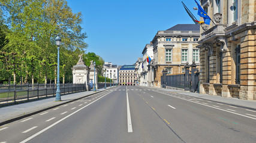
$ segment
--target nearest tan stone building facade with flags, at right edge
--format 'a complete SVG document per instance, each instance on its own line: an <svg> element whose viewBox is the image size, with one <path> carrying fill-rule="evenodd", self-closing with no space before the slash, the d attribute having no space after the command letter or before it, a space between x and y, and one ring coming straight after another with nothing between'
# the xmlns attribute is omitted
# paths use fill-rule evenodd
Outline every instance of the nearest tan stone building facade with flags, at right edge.
<svg viewBox="0 0 256 143"><path fill-rule="evenodd" d="M256 100L256 2L201 1L200 93ZM203 20L203 19L201 19Z"/></svg>

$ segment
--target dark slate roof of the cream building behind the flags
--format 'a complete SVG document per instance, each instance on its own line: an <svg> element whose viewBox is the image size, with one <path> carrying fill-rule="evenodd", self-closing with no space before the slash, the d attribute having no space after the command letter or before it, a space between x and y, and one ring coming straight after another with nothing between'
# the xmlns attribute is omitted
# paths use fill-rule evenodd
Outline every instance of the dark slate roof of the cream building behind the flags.
<svg viewBox="0 0 256 143"><path fill-rule="evenodd" d="M177 24L176 26L171 27L167 30L173 31L199 31L200 25L199 24Z"/></svg>

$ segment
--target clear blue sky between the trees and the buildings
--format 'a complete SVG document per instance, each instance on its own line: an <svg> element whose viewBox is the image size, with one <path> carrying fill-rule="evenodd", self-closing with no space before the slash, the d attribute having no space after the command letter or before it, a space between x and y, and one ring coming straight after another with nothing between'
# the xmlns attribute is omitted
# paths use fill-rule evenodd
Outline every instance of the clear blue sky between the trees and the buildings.
<svg viewBox="0 0 256 143"><path fill-rule="evenodd" d="M118 66L134 64L146 43L158 30L193 21L176 0L67 0L74 13L83 14L83 30L87 33L86 52L95 52L104 61ZM198 1L199 2L199 1ZM183 3L199 19L194 0Z"/></svg>

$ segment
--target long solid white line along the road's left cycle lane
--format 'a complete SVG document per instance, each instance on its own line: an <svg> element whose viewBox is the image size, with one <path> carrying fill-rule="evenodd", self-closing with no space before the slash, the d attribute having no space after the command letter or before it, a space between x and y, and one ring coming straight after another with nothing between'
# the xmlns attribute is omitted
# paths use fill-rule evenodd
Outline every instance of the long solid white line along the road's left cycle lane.
<svg viewBox="0 0 256 143"><path fill-rule="evenodd" d="M110 92L109 92L108 94L110 94ZM106 95L107 95L107 94L106 94ZM106 95L102 96L101 98L105 97ZM98 98L98 100L100 100L101 98ZM94 102L96 102L96 101L97 101L97 100L95 100L95 101L89 103L88 105L91 105L92 103L94 103ZM80 108L79 110L74 111L73 113L71 113L71 114L69 114L68 116L62 118L61 120L58 120L57 122L53 123L52 125L47 126L47 128L44 128L43 130L40 130L39 132L35 133L34 135L29 136L29 138L26 138L25 140L23 140L23 141L20 142L20 143L25 143L25 142L31 140L32 138L35 138L35 136L40 135L41 133L43 133L43 132L46 131L47 129L52 128L53 126L57 125L58 123L62 122L62 121L65 120L65 119L67 119L68 117L72 116L73 114L77 113L78 111L82 110L83 108L88 107L88 105L85 105L84 107Z"/></svg>

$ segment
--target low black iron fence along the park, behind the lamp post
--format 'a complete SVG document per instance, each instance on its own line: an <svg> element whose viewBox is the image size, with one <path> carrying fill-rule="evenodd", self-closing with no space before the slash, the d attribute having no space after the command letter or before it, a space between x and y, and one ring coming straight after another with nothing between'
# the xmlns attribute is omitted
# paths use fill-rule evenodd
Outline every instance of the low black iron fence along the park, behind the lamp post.
<svg viewBox="0 0 256 143"><path fill-rule="evenodd" d="M61 95L86 91L85 84L65 83L59 86ZM55 97L56 84L0 85L0 104Z"/></svg>

